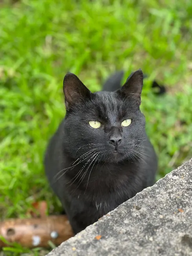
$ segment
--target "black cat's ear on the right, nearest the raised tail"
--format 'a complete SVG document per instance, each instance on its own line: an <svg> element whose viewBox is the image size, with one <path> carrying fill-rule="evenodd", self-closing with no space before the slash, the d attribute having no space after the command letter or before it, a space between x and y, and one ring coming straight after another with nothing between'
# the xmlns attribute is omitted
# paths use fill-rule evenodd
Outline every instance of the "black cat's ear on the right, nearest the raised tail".
<svg viewBox="0 0 192 256"><path fill-rule="evenodd" d="M132 97L137 101L137 103L141 104L141 91L143 87L143 71L138 69L133 72L125 84L118 90L119 93L123 93L123 95L127 97Z"/></svg>

